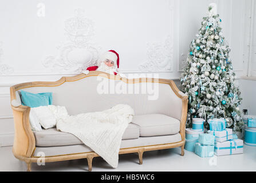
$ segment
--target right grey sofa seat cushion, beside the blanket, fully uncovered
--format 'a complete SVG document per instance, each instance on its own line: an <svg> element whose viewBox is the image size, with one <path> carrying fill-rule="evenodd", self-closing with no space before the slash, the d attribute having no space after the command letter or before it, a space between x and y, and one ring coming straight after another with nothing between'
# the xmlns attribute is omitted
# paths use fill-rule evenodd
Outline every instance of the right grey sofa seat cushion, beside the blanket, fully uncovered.
<svg viewBox="0 0 256 183"><path fill-rule="evenodd" d="M166 136L179 133L180 121L164 114L146 114L133 117L140 128L140 137Z"/></svg>

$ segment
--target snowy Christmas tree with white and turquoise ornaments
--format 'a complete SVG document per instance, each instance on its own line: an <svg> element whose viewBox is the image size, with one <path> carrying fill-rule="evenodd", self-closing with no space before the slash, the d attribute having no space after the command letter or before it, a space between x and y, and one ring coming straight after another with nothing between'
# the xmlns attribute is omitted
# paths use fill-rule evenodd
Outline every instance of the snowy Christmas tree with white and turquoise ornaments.
<svg viewBox="0 0 256 183"><path fill-rule="evenodd" d="M192 126L195 117L206 121L225 118L227 127L241 132L241 92L234 85L231 50L223 37L221 22L216 5L210 4L199 33L190 44L180 90L188 95L187 127ZM207 122L204 126L209 129Z"/></svg>

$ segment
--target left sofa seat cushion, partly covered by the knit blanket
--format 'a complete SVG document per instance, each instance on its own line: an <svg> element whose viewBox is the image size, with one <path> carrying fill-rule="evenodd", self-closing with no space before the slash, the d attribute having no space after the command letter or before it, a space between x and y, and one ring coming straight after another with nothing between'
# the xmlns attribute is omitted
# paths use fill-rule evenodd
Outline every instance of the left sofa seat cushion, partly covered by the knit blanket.
<svg viewBox="0 0 256 183"><path fill-rule="evenodd" d="M84 144L76 136L70 133L60 132L56 128L42 131L33 131L36 138L36 146L63 146ZM130 123L123 134L122 140L139 138L139 127Z"/></svg>

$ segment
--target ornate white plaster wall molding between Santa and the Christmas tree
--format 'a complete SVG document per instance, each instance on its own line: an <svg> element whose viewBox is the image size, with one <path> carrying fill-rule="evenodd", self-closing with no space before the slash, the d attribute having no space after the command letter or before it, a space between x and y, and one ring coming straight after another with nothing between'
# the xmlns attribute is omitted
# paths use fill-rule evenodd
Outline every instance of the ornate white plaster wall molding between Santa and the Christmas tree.
<svg viewBox="0 0 256 183"><path fill-rule="evenodd" d="M147 43L147 61L139 65L140 71L161 72L172 71L174 39L171 35L163 43Z"/></svg>

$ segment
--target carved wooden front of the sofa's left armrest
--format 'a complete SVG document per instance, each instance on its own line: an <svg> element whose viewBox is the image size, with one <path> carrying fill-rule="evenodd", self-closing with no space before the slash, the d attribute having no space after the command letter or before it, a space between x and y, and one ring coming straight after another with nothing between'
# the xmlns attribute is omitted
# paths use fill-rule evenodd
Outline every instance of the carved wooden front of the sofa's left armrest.
<svg viewBox="0 0 256 183"><path fill-rule="evenodd" d="M14 119L13 153L14 156L31 157L36 147L36 139L29 123L30 108L17 105L14 88L11 87L10 90L11 109L13 110Z"/></svg>

